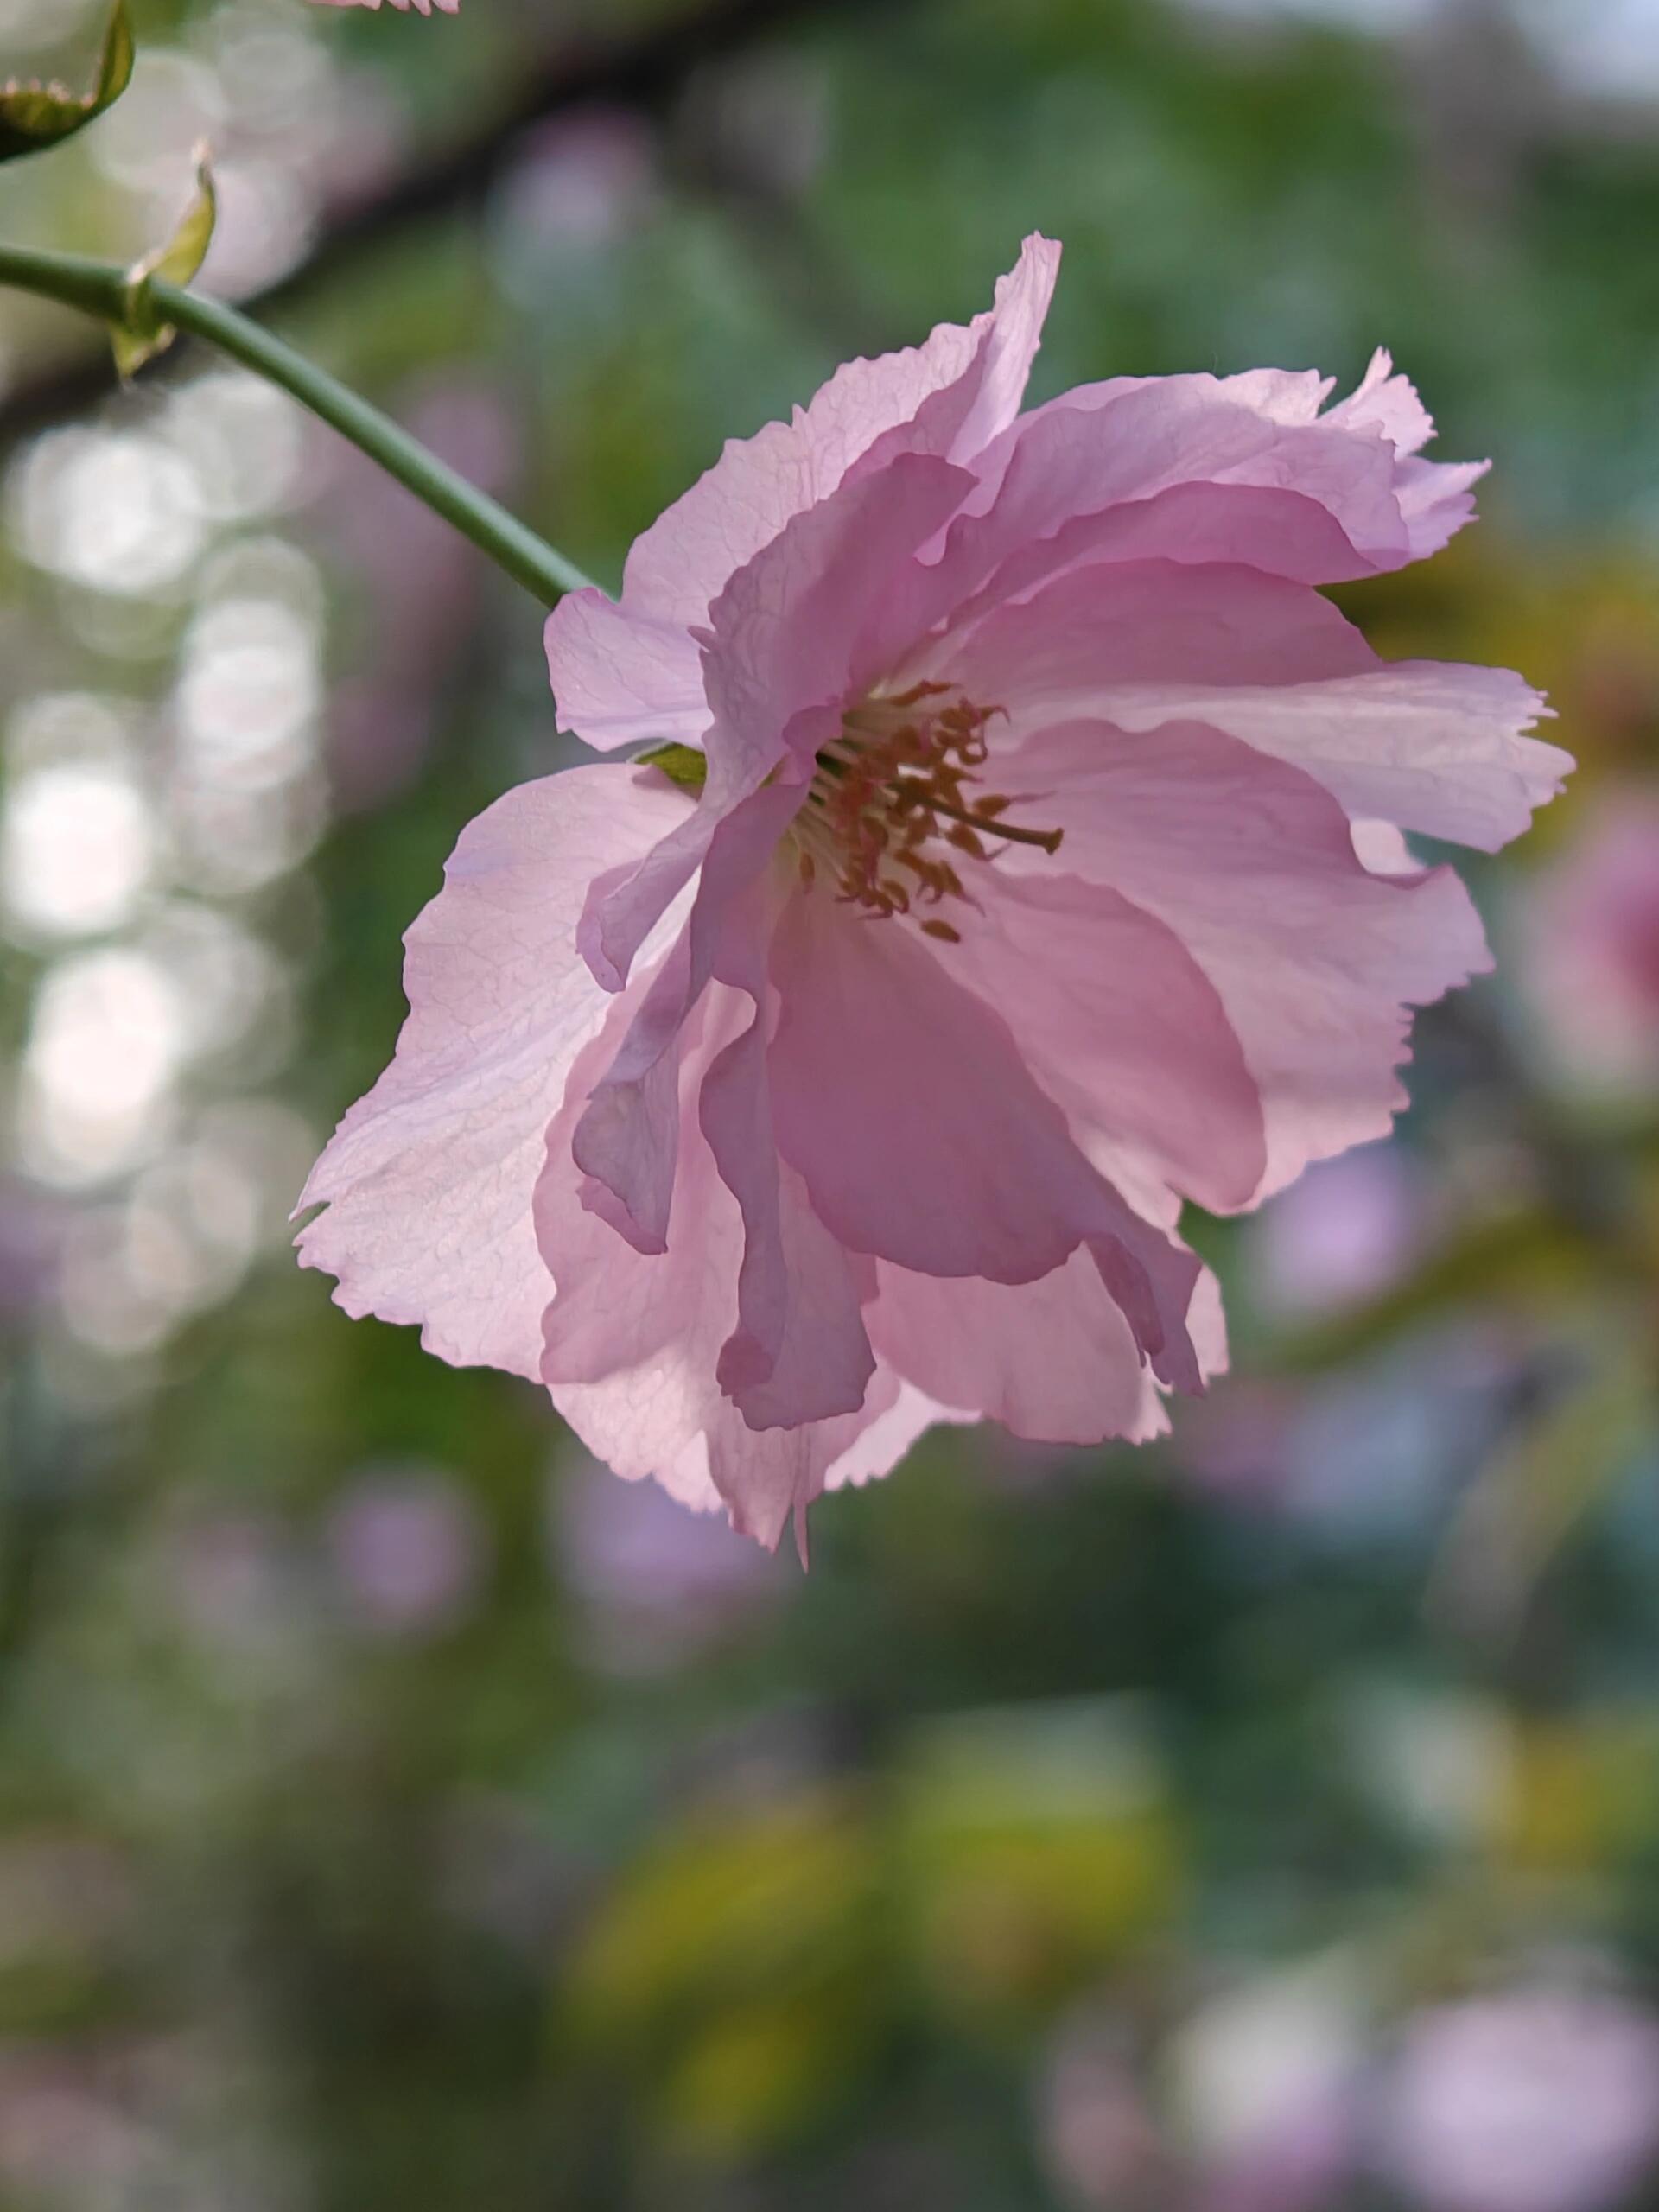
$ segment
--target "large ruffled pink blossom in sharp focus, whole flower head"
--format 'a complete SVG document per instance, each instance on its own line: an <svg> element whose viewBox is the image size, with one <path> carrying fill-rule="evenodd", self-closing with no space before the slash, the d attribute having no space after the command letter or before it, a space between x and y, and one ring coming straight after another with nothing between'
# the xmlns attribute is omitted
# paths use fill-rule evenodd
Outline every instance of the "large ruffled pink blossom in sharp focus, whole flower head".
<svg viewBox="0 0 1659 2212"><path fill-rule="evenodd" d="M586 765L462 834L303 1203L352 1314L774 1544L938 1420L1146 1438L1225 1360L1179 1208L1383 1135L1458 878L1568 759L1316 584L1478 467L1378 356L1020 414L1057 270L730 445L546 644Z"/></svg>

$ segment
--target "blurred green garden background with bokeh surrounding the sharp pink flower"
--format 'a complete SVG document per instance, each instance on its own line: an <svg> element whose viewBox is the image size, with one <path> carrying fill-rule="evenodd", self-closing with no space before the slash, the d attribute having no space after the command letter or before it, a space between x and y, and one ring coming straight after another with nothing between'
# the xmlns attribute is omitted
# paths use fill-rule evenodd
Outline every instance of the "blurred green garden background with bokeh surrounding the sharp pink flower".
<svg viewBox="0 0 1659 2212"><path fill-rule="evenodd" d="M929 1442L803 1579L288 1252L568 757L535 611L0 296L0 2205L1659 2205L1659 0L135 20L7 237L131 257L208 137L206 281L606 580L1031 228L1040 396L1391 345L1498 469L1343 599L1584 765L1398 1137L1192 1221L1234 1378Z"/></svg>

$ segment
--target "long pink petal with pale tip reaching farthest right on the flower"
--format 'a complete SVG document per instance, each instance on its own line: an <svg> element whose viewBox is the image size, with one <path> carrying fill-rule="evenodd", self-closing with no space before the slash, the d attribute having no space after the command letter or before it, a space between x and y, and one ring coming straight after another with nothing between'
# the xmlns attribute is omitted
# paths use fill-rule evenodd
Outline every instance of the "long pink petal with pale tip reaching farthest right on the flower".
<svg viewBox="0 0 1659 2212"><path fill-rule="evenodd" d="M1077 568L936 641L914 672L1004 703L1011 739L1073 717L1203 721L1307 770L1349 814L1484 852L1573 768L1524 734L1548 710L1522 677L1380 661L1327 599L1254 568Z"/></svg>

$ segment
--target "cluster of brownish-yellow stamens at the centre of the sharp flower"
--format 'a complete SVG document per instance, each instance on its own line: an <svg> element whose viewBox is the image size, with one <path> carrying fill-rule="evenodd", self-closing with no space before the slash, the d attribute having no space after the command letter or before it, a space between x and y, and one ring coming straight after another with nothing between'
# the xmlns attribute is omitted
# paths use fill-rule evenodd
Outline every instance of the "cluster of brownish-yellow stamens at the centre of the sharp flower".
<svg viewBox="0 0 1659 2212"><path fill-rule="evenodd" d="M818 876L869 916L938 907L973 894L956 856L991 860L1000 845L1060 852L1060 830L1020 830L1002 821L1015 799L971 794L989 759L987 730L1000 706L973 706L951 684L872 692L818 754L818 772L794 818L801 883ZM922 922L947 945L960 936L938 916Z"/></svg>

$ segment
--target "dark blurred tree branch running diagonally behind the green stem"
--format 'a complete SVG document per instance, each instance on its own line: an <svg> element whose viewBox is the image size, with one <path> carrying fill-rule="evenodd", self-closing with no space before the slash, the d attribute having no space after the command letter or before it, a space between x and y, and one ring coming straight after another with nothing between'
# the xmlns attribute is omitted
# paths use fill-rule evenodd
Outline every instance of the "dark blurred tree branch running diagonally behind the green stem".
<svg viewBox="0 0 1659 2212"><path fill-rule="evenodd" d="M872 4L874 0L706 0L703 7L630 40L566 46L546 60L520 97L482 131L449 153L422 159L385 192L341 210L299 268L237 305L259 319L290 314L330 281L347 276L376 248L420 223L478 208L511 164L520 135L533 124L599 102L661 113L703 62L774 31L814 18L845 18ZM184 349L181 345L179 352ZM53 422L86 414L115 389L115 367L102 341L82 354L60 358L13 387L0 403L0 449Z"/></svg>

